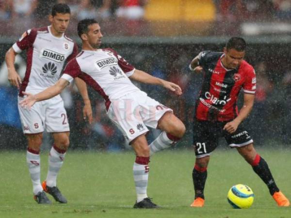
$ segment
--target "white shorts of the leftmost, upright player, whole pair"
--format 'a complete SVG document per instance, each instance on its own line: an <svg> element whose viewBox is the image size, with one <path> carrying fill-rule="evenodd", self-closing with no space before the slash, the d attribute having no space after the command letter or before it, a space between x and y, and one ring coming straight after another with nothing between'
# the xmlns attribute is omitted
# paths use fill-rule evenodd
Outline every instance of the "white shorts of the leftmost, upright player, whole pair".
<svg viewBox="0 0 291 218"><path fill-rule="evenodd" d="M18 103L23 97L18 96ZM24 109L18 104L18 111L24 134L70 131L64 102L60 95L36 102L32 109Z"/></svg>

